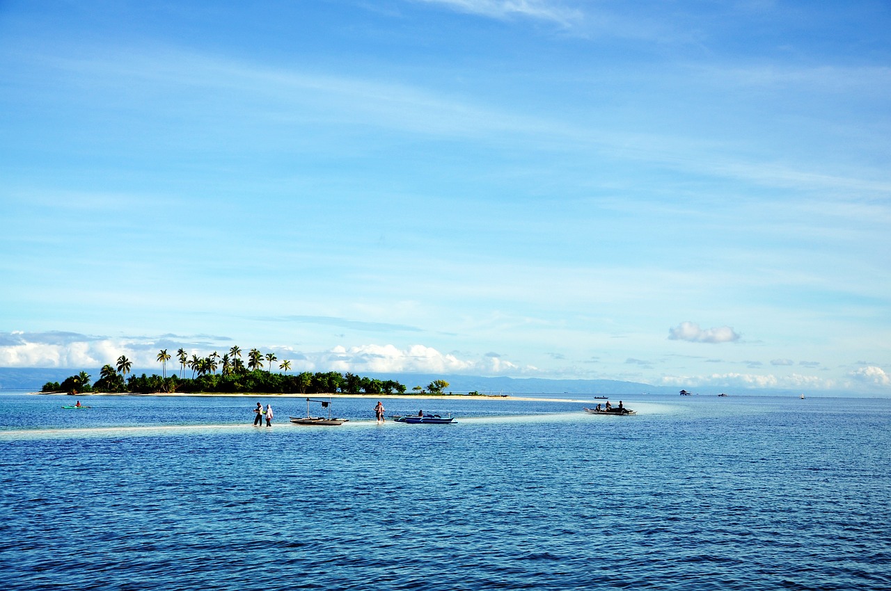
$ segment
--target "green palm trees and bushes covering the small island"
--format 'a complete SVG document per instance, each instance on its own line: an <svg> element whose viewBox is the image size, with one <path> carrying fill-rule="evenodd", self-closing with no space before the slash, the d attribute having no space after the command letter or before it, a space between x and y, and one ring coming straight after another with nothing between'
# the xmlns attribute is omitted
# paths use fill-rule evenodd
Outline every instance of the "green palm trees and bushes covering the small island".
<svg viewBox="0 0 891 591"><path fill-rule="evenodd" d="M395 380L379 380L355 374L340 374L336 371L285 373L290 369L290 361L279 363L281 373L271 371L276 361L274 353L263 353L251 349L248 363L241 361L241 348L232 347L225 355L213 352L208 357L196 355L188 357L180 349L177 358L180 363L179 376L167 375L167 362L171 356L166 349L158 353L162 375L127 376L132 363L121 355L117 368L105 365L100 371L99 379L90 384L90 375L81 371L69 376L61 384L48 382L43 392L67 393L349 393L349 394L391 394L405 393L405 385ZM264 360L269 369L264 369ZM192 376L186 377L186 368L192 370ZM220 373L217 373L217 369ZM428 385L429 393L443 393L448 387L445 380L434 380ZM413 393L428 393L421 386L415 386Z"/></svg>

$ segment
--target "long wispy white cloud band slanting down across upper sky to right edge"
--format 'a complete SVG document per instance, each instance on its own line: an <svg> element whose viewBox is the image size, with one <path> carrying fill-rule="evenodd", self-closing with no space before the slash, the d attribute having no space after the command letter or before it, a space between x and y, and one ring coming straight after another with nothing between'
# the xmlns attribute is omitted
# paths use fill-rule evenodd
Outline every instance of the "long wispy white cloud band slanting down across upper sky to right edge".
<svg viewBox="0 0 891 591"><path fill-rule="evenodd" d="M475 7L492 14L526 10L555 14L560 10L548 3L472 2L470 0L419 0L439 4ZM516 5L515 5L516 4ZM570 11L571 12L571 11ZM53 68L84 79L103 96L169 92L192 96L160 109L173 109L167 115L186 118L193 126L212 125L219 118L239 120L251 130L272 126L288 129L307 125L311 119L329 130L337 125L372 125L388 132L420 137L458 138L473 142L526 145L530 150L566 150L593 158L617 158L667 166L693 174L780 187L887 193L887 176L833 174L807 170L794 164L766 162L764 158L741 155L728 143L698 139L693 134L650 134L625 128L609 131L602 125L585 124L554 113L523 112L503 105L485 104L440 88L401 84L392 79L339 76L312 69L281 69L251 61L225 59L207 53L177 48L144 50L118 48L114 61L101 55L93 58L52 61ZM46 67L38 57L36 67ZM839 74L840 76L842 74ZM205 103L207 96L217 101ZM258 100L260 99L260 100ZM245 109L245 104L250 109ZM194 105L204 109L194 109ZM175 106L179 105L179 106ZM184 105L184 106L182 106ZM187 109L186 112L183 109ZM331 133L329 131L329 133ZM290 134L273 134L273 142L286 142ZM217 142L218 143L218 142Z"/></svg>

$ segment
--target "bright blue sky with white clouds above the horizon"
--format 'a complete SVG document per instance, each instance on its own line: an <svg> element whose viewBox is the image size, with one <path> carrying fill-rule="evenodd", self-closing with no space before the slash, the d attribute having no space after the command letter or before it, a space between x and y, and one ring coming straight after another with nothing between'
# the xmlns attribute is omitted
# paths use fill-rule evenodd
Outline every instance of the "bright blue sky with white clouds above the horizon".
<svg viewBox="0 0 891 591"><path fill-rule="evenodd" d="M891 393L883 2L0 1L0 367Z"/></svg>

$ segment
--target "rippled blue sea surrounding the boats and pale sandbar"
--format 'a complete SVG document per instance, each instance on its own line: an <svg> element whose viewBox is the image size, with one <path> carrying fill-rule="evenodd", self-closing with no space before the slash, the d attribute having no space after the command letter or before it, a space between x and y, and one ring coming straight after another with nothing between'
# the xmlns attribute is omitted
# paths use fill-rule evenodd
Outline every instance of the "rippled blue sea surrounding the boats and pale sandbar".
<svg viewBox="0 0 891 591"><path fill-rule="evenodd" d="M891 401L678 398L2 394L0 588L891 587Z"/></svg>

